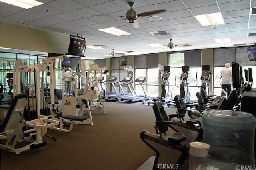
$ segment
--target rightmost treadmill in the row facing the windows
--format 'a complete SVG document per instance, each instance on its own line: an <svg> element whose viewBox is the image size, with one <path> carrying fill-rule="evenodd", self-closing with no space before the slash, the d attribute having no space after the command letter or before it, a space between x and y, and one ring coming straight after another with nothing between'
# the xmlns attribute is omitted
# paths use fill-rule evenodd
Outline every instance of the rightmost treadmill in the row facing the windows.
<svg viewBox="0 0 256 170"><path fill-rule="evenodd" d="M138 83L137 85L142 86L142 89L143 89L143 92L144 92L145 95L138 95L137 96L136 91L134 90L134 87L132 86L136 96L123 97L123 98L121 98L121 100L122 101L129 101L129 102L133 102L133 103L134 102L141 102L142 100L148 100L149 97L147 96L146 91L145 91L144 86L143 86L143 83L146 82L146 80L147 80L146 77L139 77L139 78L137 78L136 80L133 81L134 83Z"/></svg>

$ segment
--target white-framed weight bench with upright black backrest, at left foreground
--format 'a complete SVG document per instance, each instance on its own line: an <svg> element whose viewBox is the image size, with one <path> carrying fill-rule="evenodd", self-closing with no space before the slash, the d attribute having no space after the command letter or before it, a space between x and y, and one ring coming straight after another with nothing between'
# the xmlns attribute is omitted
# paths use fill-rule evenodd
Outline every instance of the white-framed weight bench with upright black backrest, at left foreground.
<svg viewBox="0 0 256 170"><path fill-rule="evenodd" d="M28 149L43 147L46 142L42 141L42 136L46 134L47 128L58 124L58 121L42 115L39 115L38 119L26 121L23 113L27 98L26 94L17 94L12 100L0 130L0 139L6 140L5 144L1 143L1 149L19 154ZM32 139L34 135L36 135L36 139ZM30 143L23 147L16 147L18 141Z"/></svg>

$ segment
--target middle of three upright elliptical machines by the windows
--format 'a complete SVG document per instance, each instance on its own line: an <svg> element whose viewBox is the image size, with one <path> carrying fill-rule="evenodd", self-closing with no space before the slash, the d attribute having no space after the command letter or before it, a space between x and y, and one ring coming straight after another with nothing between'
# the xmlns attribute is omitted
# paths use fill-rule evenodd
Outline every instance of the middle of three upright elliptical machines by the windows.
<svg viewBox="0 0 256 170"><path fill-rule="evenodd" d="M183 99L183 102L186 104L190 101L190 92L188 90L188 71L189 66L182 66L182 74L180 76L180 87L176 85L176 74L175 74L175 86L180 88L180 96Z"/></svg>

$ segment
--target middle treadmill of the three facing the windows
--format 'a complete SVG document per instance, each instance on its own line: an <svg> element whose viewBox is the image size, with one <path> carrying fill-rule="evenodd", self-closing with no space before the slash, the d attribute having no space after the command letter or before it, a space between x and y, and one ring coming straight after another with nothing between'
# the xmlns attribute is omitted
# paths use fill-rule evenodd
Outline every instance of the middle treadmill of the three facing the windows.
<svg viewBox="0 0 256 170"><path fill-rule="evenodd" d="M124 78L123 80L121 80L119 82L115 82L114 84L118 84L119 85L119 87L120 87L120 89L122 91L122 94L117 94L117 95L109 96L108 98L109 99L120 100L120 98L123 98L123 97L133 96L134 95L133 93L131 93L131 94L125 93L124 89L122 88L122 85L126 85L126 86L128 86L130 92L132 92L132 89L131 89L131 86L130 86L130 84L132 83L132 80L133 80L133 78L131 76L128 76L128 77Z"/></svg>

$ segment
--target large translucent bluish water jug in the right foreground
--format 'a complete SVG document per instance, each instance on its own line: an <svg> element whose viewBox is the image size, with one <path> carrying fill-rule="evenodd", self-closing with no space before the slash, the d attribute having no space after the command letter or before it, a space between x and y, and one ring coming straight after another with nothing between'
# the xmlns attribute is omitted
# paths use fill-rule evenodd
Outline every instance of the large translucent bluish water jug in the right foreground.
<svg viewBox="0 0 256 170"><path fill-rule="evenodd" d="M239 165L255 165L254 115L241 111L209 110L204 113L202 121L203 142L211 145L208 150L209 166L235 170Z"/></svg>

